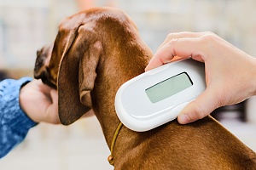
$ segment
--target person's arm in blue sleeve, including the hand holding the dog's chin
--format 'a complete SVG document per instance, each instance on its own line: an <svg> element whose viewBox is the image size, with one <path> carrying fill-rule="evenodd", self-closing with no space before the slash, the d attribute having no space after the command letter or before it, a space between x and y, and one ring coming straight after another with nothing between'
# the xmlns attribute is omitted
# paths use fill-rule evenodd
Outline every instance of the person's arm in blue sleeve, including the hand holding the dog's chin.
<svg viewBox="0 0 256 170"><path fill-rule="evenodd" d="M43 82L31 81L32 78L23 77L0 82L0 158L8 154L16 144L20 144L37 122L58 123L55 92L49 95L50 90L44 87ZM47 116L49 113L55 116Z"/></svg>

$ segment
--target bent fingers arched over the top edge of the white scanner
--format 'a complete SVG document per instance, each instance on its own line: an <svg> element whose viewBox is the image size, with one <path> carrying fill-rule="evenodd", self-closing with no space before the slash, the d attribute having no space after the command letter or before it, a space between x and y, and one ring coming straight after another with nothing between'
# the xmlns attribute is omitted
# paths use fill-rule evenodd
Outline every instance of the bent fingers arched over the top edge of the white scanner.
<svg viewBox="0 0 256 170"><path fill-rule="evenodd" d="M218 37L213 32L179 32L172 33L166 37L159 50L149 61L145 71L154 69L172 60L177 55L182 58L192 57L198 61L205 61L204 55L207 50L209 38ZM213 39L212 39L213 40ZM211 42L211 41L210 41Z"/></svg>

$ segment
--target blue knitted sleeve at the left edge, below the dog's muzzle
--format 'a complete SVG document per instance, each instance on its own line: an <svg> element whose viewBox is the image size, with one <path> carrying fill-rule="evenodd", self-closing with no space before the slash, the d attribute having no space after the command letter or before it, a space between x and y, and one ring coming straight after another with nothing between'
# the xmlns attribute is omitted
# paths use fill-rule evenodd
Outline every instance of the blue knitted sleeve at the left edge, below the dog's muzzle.
<svg viewBox="0 0 256 170"><path fill-rule="evenodd" d="M30 81L32 78L23 77L0 82L0 158L20 144L28 130L37 125L20 108L20 88Z"/></svg>

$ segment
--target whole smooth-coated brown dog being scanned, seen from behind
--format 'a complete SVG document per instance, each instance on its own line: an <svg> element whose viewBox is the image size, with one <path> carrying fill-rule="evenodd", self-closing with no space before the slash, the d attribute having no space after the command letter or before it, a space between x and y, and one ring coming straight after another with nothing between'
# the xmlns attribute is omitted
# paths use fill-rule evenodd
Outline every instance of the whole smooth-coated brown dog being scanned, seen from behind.
<svg viewBox="0 0 256 170"><path fill-rule="evenodd" d="M253 150L211 116L143 133L123 126L113 143L119 125L115 94L143 73L151 56L137 27L117 9L93 8L63 20L49 66L41 71L44 82L58 88L61 122L73 123L92 108L116 169L256 169Z"/></svg>

